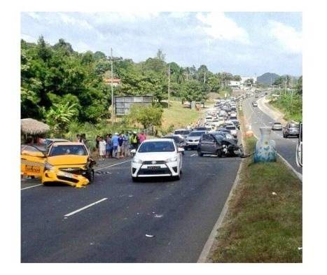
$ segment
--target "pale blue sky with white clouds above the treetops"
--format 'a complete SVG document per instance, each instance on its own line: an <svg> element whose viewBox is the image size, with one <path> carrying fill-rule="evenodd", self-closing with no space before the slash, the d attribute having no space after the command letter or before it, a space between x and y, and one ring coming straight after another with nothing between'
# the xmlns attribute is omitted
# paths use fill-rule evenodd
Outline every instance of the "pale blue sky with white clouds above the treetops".
<svg viewBox="0 0 327 275"><path fill-rule="evenodd" d="M97 50L134 62L155 57L214 73L302 75L302 13L21 13L21 38Z"/></svg>

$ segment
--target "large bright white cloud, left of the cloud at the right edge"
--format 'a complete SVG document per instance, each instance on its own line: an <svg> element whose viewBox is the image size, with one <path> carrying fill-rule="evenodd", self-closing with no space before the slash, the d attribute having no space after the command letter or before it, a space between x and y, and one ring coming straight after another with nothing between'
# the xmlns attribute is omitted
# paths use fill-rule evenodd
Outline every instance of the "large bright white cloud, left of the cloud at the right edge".
<svg viewBox="0 0 327 275"><path fill-rule="evenodd" d="M232 19L225 16L224 13L197 13L197 19L207 25L202 29L211 37L220 40L237 41L240 43L249 43L249 34L239 27Z"/></svg>

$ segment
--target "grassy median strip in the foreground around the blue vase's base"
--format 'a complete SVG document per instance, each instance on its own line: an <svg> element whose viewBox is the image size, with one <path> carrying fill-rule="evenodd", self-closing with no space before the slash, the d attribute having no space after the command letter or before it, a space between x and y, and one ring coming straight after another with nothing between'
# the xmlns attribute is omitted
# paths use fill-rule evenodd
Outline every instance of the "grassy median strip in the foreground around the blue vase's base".
<svg viewBox="0 0 327 275"><path fill-rule="evenodd" d="M256 139L246 139L254 150ZM277 195L272 195L276 192ZM302 185L281 160L246 159L212 262L302 262Z"/></svg>

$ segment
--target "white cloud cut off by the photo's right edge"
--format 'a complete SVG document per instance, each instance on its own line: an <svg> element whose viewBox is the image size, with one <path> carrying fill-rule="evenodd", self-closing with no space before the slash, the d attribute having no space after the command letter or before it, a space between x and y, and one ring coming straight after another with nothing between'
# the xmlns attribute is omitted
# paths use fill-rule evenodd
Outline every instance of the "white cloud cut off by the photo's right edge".
<svg viewBox="0 0 327 275"><path fill-rule="evenodd" d="M296 31L291 26L270 20L268 22L270 36L274 38L287 52L302 52L302 31Z"/></svg>

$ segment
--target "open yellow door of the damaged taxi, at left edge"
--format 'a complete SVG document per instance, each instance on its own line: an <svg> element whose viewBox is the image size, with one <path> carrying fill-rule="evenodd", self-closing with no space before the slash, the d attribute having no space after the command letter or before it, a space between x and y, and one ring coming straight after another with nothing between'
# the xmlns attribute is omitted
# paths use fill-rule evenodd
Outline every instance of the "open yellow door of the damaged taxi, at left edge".
<svg viewBox="0 0 327 275"><path fill-rule="evenodd" d="M46 155L33 146L22 146L20 153L20 173L24 176L41 177Z"/></svg>

